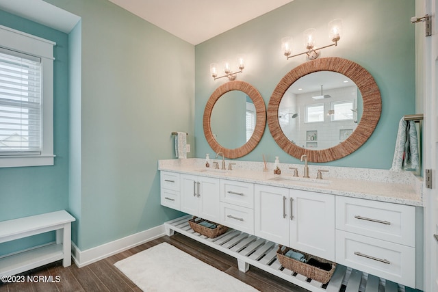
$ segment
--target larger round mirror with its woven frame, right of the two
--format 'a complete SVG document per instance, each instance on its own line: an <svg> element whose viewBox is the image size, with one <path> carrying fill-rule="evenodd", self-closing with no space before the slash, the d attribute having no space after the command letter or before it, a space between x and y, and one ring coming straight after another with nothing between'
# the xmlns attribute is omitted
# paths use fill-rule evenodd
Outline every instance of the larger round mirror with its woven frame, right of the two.
<svg viewBox="0 0 438 292"><path fill-rule="evenodd" d="M335 87L336 79L355 85ZM300 96L305 86L313 89ZM289 155L333 161L368 140L381 107L378 86L365 68L339 57L315 59L291 70L276 86L268 105L268 126Z"/></svg>

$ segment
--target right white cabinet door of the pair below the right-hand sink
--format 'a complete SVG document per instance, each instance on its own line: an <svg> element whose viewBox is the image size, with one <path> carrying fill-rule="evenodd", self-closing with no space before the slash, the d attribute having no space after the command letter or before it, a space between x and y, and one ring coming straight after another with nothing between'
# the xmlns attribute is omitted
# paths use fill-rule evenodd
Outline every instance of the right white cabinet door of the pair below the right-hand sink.
<svg viewBox="0 0 438 292"><path fill-rule="evenodd" d="M289 208L290 247L335 261L335 196L291 189Z"/></svg>

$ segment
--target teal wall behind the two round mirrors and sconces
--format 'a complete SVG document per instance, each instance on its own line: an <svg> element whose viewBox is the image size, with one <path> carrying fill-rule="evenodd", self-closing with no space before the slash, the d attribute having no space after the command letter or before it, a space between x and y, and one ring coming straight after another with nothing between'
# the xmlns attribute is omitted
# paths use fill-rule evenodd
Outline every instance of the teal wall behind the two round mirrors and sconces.
<svg viewBox="0 0 438 292"><path fill-rule="evenodd" d="M343 57L367 69L381 90L382 116L372 137L356 152L325 165L357 168L391 168L398 122L415 113L415 15L411 0L294 0L283 7L196 45L195 134L196 156L213 156L203 137L203 110L212 92L227 79L216 81L209 64L246 54L246 68L237 79L251 83L268 107L270 96L281 78L305 57L286 60L281 38L292 36L294 52L304 51L302 31L317 29L317 46L330 44L329 21L342 18L344 33L337 47L322 50L322 57ZM242 160L262 161L262 155L279 156L281 162L298 163L274 142L266 125L259 145Z"/></svg>

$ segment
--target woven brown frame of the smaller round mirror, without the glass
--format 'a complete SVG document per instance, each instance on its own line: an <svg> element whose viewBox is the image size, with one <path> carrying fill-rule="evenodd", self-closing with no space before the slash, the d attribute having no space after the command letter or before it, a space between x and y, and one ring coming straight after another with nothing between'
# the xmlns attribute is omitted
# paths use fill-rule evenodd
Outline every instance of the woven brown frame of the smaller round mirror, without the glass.
<svg viewBox="0 0 438 292"><path fill-rule="evenodd" d="M240 90L248 95L253 101L256 111L256 122L253 135L243 146L235 149L224 148L218 144L213 133L211 132L210 123L211 111L213 111L216 101L218 101L220 96L231 90ZM224 157L227 158L238 158L247 155L255 148L255 146L257 146L257 144L259 144L261 136L263 136L263 132L265 131L266 107L261 94L255 87L253 87L253 85L250 85L250 83L246 83L244 81L229 81L220 85L218 88L216 88L216 90L214 90L207 101L207 105L205 105L203 126L205 139L207 139L209 146L214 150L214 152L222 152L224 153Z"/></svg>

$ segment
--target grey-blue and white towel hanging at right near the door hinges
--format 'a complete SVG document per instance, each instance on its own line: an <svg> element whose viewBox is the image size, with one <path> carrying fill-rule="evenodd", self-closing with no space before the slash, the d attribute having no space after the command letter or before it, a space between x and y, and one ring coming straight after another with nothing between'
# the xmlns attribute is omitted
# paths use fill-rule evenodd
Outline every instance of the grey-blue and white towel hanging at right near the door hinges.
<svg viewBox="0 0 438 292"><path fill-rule="evenodd" d="M413 120L406 121L402 118L398 123L396 148L391 170L415 170L419 166L420 155L415 122Z"/></svg>

